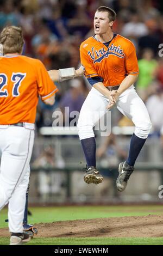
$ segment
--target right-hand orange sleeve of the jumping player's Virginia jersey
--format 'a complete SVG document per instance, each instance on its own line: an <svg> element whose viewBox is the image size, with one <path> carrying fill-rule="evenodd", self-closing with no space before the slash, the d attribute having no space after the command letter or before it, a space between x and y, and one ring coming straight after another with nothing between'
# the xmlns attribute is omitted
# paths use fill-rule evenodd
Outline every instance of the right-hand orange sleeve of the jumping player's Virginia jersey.
<svg viewBox="0 0 163 256"><path fill-rule="evenodd" d="M136 49L132 42L127 44L125 56L125 67L127 75L139 75L139 66L137 63Z"/></svg>

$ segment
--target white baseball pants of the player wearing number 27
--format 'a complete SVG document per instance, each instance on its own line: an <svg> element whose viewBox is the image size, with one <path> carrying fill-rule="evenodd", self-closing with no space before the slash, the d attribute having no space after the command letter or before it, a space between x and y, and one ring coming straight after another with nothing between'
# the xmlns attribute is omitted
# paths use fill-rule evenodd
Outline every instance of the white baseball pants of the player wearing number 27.
<svg viewBox="0 0 163 256"><path fill-rule="evenodd" d="M9 203L9 231L12 233L23 232L34 124L28 125L27 128L0 125L0 210Z"/></svg>

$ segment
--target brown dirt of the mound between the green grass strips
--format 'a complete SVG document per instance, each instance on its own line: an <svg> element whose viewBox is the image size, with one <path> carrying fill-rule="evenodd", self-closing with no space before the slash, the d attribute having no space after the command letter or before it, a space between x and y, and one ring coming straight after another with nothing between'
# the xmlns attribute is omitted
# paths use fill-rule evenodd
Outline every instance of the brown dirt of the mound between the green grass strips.
<svg viewBox="0 0 163 256"><path fill-rule="evenodd" d="M163 215L95 218L92 220L39 223L37 237L159 237L163 236ZM9 236L7 228L0 236Z"/></svg>

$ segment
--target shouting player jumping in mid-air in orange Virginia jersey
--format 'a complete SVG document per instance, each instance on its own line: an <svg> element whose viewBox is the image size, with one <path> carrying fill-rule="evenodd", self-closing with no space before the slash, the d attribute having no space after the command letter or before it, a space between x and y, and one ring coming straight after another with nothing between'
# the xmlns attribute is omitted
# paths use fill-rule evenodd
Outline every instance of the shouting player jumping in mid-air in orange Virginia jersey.
<svg viewBox="0 0 163 256"><path fill-rule="evenodd" d="M114 105L133 121L135 132L131 138L128 159L120 163L118 168L117 189L124 191L151 130L151 121L133 85L139 75L135 47L130 40L112 32L115 19L114 10L99 7L94 17L95 35L80 46L81 62L92 89L80 111L78 130L87 162L84 181L98 184L103 181L103 177L96 169L93 127L106 110Z"/></svg>

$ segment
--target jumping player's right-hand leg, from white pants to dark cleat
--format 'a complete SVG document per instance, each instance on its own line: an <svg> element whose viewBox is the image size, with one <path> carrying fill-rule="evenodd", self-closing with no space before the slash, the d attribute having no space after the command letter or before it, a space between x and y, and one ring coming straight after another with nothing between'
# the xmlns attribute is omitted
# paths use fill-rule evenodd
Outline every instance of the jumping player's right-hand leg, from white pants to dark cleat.
<svg viewBox="0 0 163 256"><path fill-rule="evenodd" d="M146 142L151 130L151 120L147 112L147 108L135 89L128 89L128 94L122 94L117 102L117 108L130 118L135 124L135 131L130 141L130 149L128 159L119 164L117 178L118 191L124 191L127 187L128 179L134 171L134 164L139 153ZM126 103L126 97L128 102Z"/></svg>

